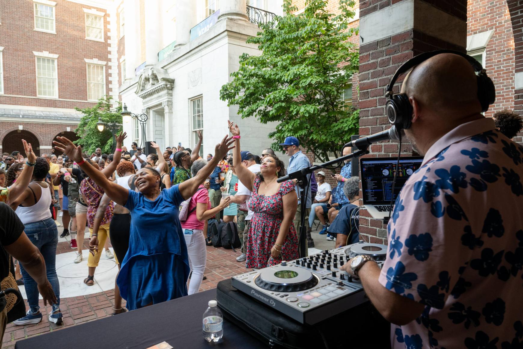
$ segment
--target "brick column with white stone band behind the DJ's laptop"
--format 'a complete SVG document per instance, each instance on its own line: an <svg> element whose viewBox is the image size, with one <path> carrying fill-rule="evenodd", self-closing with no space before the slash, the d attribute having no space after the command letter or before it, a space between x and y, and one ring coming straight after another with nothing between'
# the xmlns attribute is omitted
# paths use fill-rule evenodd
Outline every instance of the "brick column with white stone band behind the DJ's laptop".
<svg viewBox="0 0 523 349"><path fill-rule="evenodd" d="M367 136L390 128L384 89L402 63L437 49L465 52L467 0L361 0L359 35L359 134ZM366 156L389 157L399 150L397 143L383 142L371 145L370 151ZM401 153L412 155L411 145L402 144ZM383 222L365 209L359 224L363 240L387 244Z"/></svg>

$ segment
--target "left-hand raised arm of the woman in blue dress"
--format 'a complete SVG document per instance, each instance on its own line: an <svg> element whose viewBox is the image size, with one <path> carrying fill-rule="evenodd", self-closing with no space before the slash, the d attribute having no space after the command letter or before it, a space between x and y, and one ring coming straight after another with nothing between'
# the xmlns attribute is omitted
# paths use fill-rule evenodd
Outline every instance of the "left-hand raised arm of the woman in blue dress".
<svg viewBox="0 0 523 349"><path fill-rule="evenodd" d="M61 150L65 155L73 159L73 161L76 161L87 176L92 178L96 184L104 189L111 200L115 201L118 205L123 206L126 204L129 197L129 190L109 181L101 171L96 170L96 168L91 166L88 162L84 161L79 145L74 145L73 142L65 137L58 137L57 139L58 140L53 141L56 149Z"/></svg>

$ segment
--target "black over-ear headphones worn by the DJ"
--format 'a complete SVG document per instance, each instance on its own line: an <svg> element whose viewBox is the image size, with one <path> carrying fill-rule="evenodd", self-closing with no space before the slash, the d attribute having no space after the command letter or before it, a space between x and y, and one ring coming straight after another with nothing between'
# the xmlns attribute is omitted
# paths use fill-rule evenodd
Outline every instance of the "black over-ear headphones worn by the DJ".
<svg viewBox="0 0 523 349"><path fill-rule="evenodd" d="M494 88L494 83L492 82L491 78L487 76L480 62L476 61L468 54L464 54L459 51L438 50L425 52L422 54L418 54L416 57L403 63L403 65L396 70L394 76L392 76L392 80L389 86L387 86L387 90L385 93L385 97L387 98L387 103L385 104L385 112L387 118L389 119L389 122L392 125L394 125L398 131L401 129L408 129L411 127L412 105L410 102L408 102L408 96L406 94L394 94L392 92L394 83L401 74L440 53L454 53L460 55L461 57L469 61L469 63L474 68L474 71L477 73L477 99L480 100L481 111L487 111L488 107L494 104L494 101L496 100L496 90Z"/></svg>

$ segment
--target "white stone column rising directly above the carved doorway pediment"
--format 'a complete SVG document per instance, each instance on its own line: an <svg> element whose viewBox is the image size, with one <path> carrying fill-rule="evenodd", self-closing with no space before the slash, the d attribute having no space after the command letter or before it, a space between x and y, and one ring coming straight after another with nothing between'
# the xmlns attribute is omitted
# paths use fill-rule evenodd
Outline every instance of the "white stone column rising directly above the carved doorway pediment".
<svg viewBox="0 0 523 349"><path fill-rule="evenodd" d="M162 46L162 19L160 0L147 0L145 5L145 66L158 63Z"/></svg>

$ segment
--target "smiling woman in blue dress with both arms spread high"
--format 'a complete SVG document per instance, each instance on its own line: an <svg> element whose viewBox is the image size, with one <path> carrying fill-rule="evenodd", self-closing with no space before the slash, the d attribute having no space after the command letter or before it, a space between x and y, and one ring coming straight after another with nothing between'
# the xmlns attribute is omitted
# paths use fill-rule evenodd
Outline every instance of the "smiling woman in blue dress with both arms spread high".
<svg viewBox="0 0 523 349"><path fill-rule="evenodd" d="M212 173L218 160L230 150L232 137L225 136L215 147L214 157L187 181L160 191L161 177L153 168L142 168L134 178L139 193L109 181L82 158L79 146L65 137L54 141L105 190L109 198L131 211L129 250L123 259L117 284L127 308L134 310L187 296L189 262L178 209L192 197Z"/></svg>

